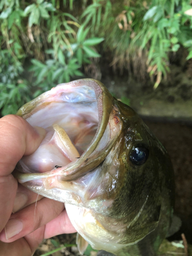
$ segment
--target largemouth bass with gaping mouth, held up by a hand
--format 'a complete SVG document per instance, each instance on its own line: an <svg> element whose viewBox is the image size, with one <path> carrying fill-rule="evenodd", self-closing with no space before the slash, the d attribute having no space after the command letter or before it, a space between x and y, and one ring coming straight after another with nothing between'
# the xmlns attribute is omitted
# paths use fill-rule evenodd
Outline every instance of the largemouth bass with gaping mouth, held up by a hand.
<svg viewBox="0 0 192 256"><path fill-rule="evenodd" d="M136 112L101 82L81 79L59 84L17 115L47 135L15 176L65 203L79 251L90 243L115 255L156 255L173 216L173 167Z"/></svg>

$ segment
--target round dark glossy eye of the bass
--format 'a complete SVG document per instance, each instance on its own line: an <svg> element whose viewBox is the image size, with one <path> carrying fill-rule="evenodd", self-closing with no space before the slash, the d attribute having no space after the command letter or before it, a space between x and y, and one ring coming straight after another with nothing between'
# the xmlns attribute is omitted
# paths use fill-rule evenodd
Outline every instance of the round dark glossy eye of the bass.
<svg viewBox="0 0 192 256"><path fill-rule="evenodd" d="M146 162L148 155L149 151L145 145L138 145L131 151L130 160L136 165L142 165Z"/></svg>

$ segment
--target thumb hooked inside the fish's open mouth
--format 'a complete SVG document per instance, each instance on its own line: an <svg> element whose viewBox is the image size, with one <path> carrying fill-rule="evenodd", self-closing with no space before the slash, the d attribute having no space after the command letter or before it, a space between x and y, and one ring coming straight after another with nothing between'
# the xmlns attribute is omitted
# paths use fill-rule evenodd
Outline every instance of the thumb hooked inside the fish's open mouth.
<svg viewBox="0 0 192 256"><path fill-rule="evenodd" d="M32 127L25 119L7 115L0 119L0 176L12 173L16 163L23 155L30 155L37 150L46 130Z"/></svg>

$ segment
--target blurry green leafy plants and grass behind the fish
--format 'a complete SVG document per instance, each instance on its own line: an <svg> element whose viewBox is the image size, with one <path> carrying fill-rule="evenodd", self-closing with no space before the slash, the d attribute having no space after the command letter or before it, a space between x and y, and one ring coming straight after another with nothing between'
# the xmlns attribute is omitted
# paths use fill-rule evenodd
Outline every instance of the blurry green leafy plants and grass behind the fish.
<svg viewBox="0 0 192 256"><path fill-rule="evenodd" d="M1 0L2 115L79 78L100 54L114 70L149 73L156 88L171 53L184 47L192 58L191 8L190 0Z"/></svg>

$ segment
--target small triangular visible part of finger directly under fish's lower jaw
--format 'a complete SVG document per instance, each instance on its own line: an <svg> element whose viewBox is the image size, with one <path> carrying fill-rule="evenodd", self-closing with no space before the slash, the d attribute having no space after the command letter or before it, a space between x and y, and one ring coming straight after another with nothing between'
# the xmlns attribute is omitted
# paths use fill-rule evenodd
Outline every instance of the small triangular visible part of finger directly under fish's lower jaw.
<svg viewBox="0 0 192 256"><path fill-rule="evenodd" d="M41 200L42 198L44 197L34 193L22 184L18 184L12 212L15 213L26 206Z"/></svg>

